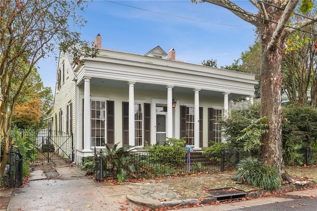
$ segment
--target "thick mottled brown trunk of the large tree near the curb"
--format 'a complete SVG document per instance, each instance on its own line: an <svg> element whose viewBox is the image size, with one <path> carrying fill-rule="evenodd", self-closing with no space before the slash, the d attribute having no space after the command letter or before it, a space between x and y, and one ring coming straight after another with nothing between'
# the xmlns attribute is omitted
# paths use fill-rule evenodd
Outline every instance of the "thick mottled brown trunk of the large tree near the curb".
<svg viewBox="0 0 317 211"><path fill-rule="evenodd" d="M276 11L278 13L278 11ZM280 15L276 15L279 16ZM259 158L261 161L276 166L285 174L285 167L282 156L282 44L280 39L275 46L268 48L272 33L276 25L266 23L260 31L262 40L262 65L261 65L261 117L268 118L269 129L261 137L263 145L260 148ZM285 177L284 177L285 178Z"/></svg>

